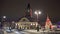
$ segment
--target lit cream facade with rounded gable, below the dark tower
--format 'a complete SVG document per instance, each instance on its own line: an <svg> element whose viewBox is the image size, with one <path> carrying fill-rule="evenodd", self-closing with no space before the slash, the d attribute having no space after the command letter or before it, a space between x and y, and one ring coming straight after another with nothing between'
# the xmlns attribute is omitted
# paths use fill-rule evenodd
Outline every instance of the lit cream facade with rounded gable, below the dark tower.
<svg viewBox="0 0 60 34"><path fill-rule="evenodd" d="M21 20L15 23L15 28L18 29L36 29L38 23L30 22L26 17L21 18Z"/></svg>

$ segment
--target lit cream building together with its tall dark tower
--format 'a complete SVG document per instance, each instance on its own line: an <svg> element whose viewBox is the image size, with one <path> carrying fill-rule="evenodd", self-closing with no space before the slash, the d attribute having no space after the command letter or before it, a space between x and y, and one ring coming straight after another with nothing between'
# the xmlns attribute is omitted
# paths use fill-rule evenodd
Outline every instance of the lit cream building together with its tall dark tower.
<svg viewBox="0 0 60 34"><path fill-rule="evenodd" d="M29 3L25 10L26 10L25 15L22 18L20 18L17 23L15 23L16 24L15 28L36 29L38 22L36 22L36 19L32 17L32 9Z"/></svg>

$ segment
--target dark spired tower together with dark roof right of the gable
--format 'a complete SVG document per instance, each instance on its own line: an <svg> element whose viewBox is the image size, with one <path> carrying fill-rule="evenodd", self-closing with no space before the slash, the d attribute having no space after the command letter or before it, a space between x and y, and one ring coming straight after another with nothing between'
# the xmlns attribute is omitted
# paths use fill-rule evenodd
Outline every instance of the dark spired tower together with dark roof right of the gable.
<svg viewBox="0 0 60 34"><path fill-rule="evenodd" d="M25 13L24 17L29 19L31 22L36 21L36 19L34 17L32 17L32 8L30 6L30 3L27 4L27 7L25 8L25 12L24 13Z"/></svg>

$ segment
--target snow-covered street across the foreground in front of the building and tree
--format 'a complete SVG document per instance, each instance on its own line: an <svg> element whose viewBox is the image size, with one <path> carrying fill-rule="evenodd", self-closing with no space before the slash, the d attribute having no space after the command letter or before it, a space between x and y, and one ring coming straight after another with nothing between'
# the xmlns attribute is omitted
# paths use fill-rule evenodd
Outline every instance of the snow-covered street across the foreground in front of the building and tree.
<svg viewBox="0 0 60 34"><path fill-rule="evenodd" d="M23 30L23 31L13 31L11 33L8 33L6 31L4 31L4 34L59 34L60 31L39 31L37 32L36 30Z"/></svg>

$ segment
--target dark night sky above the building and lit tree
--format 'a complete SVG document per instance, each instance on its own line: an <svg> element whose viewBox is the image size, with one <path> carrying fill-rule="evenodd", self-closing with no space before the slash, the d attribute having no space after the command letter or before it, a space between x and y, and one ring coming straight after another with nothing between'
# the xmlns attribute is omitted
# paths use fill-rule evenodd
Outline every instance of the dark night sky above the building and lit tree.
<svg viewBox="0 0 60 34"><path fill-rule="evenodd" d="M60 0L0 0L0 16L21 17L24 15L28 2L33 12L41 10L42 14L49 15L52 22L60 21Z"/></svg>

